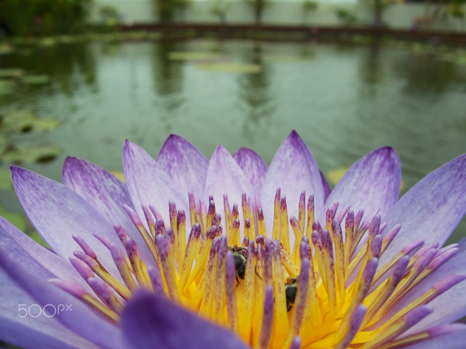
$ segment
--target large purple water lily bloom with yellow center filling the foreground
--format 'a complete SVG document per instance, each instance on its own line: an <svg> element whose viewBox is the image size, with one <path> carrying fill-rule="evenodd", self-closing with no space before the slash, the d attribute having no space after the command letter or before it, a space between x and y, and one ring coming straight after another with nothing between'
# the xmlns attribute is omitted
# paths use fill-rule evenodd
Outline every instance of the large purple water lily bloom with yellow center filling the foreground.
<svg viewBox="0 0 466 349"><path fill-rule="evenodd" d="M126 183L68 157L11 166L44 248L0 217L0 339L24 348L464 348L466 154L398 201L382 147L333 190L295 132L270 166L171 135Z"/></svg>

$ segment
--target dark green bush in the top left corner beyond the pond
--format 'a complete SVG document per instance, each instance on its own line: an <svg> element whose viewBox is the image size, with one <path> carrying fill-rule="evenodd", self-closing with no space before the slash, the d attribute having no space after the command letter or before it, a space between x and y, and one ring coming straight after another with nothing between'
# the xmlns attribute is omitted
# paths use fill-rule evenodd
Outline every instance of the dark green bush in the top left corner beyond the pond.
<svg viewBox="0 0 466 349"><path fill-rule="evenodd" d="M76 34L91 0L0 0L0 27L11 35Z"/></svg>

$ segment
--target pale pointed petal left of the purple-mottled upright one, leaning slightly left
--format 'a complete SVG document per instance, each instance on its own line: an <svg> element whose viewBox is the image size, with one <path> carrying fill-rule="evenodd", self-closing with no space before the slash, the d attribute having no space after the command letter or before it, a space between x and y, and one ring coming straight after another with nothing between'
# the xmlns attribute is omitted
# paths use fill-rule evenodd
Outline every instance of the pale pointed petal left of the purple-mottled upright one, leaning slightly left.
<svg viewBox="0 0 466 349"><path fill-rule="evenodd" d="M168 201L175 201L178 208L189 211L188 193L181 193L179 186L164 169L137 144L126 140L123 146L123 171L134 208L148 229L142 204L152 205L160 211L164 221L169 222ZM186 225L190 219L186 217Z"/></svg>

